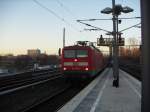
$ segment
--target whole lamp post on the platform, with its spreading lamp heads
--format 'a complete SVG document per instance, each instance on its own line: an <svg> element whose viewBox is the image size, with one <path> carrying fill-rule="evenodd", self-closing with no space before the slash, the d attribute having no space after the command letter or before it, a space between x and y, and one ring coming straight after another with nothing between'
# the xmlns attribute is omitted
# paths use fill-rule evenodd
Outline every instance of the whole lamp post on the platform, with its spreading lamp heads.
<svg viewBox="0 0 150 112"><path fill-rule="evenodd" d="M133 9L130 7L122 7L121 5L116 5L115 0L112 0L112 8L106 7L101 11L101 13L104 14L110 14L113 15L113 86L119 87L119 65L118 65L118 45L117 45L117 39L118 39L118 16L123 13L129 13L132 12Z"/></svg>

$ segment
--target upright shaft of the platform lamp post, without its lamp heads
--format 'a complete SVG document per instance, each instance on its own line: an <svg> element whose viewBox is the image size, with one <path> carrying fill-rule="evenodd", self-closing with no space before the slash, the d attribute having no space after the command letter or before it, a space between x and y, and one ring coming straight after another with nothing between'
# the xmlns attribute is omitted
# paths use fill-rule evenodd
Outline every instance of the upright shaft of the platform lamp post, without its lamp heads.
<svg viewBox="0 0 150 112"><path fill-rule="evenodd" d="M119 72L118 72L118 60L117 60L117 33L116 33L116 20L117 16L115 14L115 0L112 0L112 9L113 9L113 86L119 86Z"/></svg>

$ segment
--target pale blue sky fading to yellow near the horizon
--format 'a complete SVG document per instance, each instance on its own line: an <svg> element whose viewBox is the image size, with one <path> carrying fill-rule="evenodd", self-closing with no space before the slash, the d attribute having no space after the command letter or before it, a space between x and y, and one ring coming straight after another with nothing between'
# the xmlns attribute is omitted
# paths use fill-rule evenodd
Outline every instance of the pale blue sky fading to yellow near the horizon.
<svg viewBox="0 0 150 112"><path fill-rule="evenodd" d="M40 6L38 3L42 4ZM139 17L139 0L116 0L116 4L129 6L134 12L119 17ZM40 49L47 54L57 54L63 46L63 28L66 29L66 45L78 40L96 42L103 31L85 31L90 28L78 23L78 19L108 19L111 14L100 11L111 7L112 0L0 0L0 54L26 54L27 49ZM112 31L112 21L92 21L91 25ZM139 19L122 20L119 29L140 23ZM123 37L140 39L140 29L123 32Z"/></svg>

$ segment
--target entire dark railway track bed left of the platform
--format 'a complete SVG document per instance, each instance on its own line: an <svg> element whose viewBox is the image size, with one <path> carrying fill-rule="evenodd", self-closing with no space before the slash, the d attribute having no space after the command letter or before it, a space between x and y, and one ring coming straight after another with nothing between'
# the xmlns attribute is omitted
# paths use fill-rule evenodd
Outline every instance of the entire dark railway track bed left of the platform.
<svg viewBox="0 0 150 112"><path fill-rule="evenodd" d="M70 85L66 83L65 77L59 70L57 71L27 74L26 79L21 83L18 81L12 87L6 86L1 89L0 110L3 112L54 112L92 81L78 86ZM29 78L31 81L28 80Z"/></svg>

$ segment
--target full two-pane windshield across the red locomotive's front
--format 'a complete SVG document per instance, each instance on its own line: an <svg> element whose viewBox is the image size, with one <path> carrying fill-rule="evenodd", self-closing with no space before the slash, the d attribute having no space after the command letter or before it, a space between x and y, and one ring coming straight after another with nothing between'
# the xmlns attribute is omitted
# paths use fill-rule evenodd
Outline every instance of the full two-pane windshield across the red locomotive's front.
<svg viewBox="0 0 150 112"><path fill-rule="evenodd" d="M65 50L64 58L85 58L88 57L87 50Z"/></svg>

